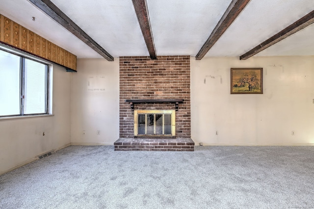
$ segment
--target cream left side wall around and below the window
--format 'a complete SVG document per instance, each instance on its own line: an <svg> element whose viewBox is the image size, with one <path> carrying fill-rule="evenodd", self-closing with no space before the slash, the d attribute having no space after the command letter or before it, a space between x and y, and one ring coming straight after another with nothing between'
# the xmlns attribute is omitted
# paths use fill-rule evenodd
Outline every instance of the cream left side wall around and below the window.
<svg viewBox="0 0 314 209"><path fill-rule="evenodd" d="M71 73L54 65L54 116L0 120L0 174L70 144L70 89Z"/></svg>

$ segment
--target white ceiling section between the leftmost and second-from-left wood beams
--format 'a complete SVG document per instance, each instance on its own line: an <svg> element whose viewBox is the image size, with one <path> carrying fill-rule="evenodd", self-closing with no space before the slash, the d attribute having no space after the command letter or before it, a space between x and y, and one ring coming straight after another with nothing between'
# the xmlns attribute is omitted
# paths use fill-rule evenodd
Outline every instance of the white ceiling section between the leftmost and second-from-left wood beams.
<svg viewBox="0 0 314 209"><path fill-rule="evenodd" d="M149 55L131 0L52 0L112 56Z"/></svg>

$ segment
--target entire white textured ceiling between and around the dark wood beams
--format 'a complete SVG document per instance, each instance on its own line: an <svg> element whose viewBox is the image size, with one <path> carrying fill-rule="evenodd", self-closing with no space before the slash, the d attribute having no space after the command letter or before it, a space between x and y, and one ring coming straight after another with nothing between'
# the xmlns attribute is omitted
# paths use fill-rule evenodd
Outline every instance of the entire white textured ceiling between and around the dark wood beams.
<svg viewBox="0 0 314 209"><path fill-rule="evenodd" d="M112 56L149 55L131 0L52 0ZM195 56L231 0L147 0L157 55ZM314 0L251 0L206 56L240 56L314 10ZM0 14L78 58L101 58L28 0L0 0ZM35 17L35 21L32 21ZM309 26L256 56L314 55Z"/></svg>

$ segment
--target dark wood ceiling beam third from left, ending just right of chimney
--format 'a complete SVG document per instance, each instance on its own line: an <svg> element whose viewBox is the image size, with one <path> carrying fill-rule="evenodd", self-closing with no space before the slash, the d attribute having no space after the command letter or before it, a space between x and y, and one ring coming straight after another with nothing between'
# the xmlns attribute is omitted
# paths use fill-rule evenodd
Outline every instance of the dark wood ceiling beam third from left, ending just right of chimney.
<svg viewBox="0 0 314 209"><path fill-rule="evenodd" d="M245 8L250 0L232 0L224 15L221 17L218 24L211 32L209 38L202 46L201 50L196 54L196 60L201 60L210 48L218 41L218 39L224 34L229 26L235 21L237 16Z"/></svg>

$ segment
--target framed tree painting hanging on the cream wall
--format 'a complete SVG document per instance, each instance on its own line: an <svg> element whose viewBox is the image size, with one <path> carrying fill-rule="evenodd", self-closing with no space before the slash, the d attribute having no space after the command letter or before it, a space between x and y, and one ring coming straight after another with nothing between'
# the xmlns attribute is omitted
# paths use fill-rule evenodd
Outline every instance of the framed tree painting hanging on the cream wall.
<svg viewBox="0 0 314 209"><path fill-rule="evenodd" d="M262 68L231 68L231 94L262 93Z"/></svg>

